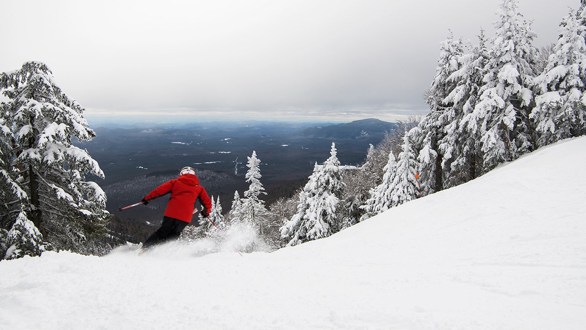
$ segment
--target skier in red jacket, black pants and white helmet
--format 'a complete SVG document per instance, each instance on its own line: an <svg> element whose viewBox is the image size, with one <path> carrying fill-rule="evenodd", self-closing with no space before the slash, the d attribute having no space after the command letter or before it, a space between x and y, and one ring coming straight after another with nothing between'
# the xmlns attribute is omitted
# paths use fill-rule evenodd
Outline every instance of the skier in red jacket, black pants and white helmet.
<svg viewBox="0 0 586 330"><path fill-rule="evenodd" d="M171 193L171 197L165 209L163 224L142 245L143 251L152 245L179 238L183 228L191 222L193 213L195 213L193 207L196 200L202 204L203 217L207 217L212 210L212 200L207 196L206 190L199 185L195 170L189 166L183 167L179 171L177 179L161 184L145 198L142 198L142 203L146 205L149 201L169 193Z"/></svg>

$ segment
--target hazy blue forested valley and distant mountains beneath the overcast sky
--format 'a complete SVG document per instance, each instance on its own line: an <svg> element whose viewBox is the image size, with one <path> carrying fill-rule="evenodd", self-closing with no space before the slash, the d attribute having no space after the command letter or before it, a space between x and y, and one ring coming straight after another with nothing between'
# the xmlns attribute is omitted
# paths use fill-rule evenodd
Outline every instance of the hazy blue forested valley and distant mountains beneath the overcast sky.
<svg viewBox="0 0 586 330"><path fill-rule="evenodd" d="M244 174L247 157L253 150L261 160L261 181L267 190L299 183L307 179L315 163L328 159L332 142L336 143L340 163L356 165L365 160L369 144L379 143L386 132L397 126L364 119L344 124L217 122L151 128L98 127L94 129L96 138L80 147L104 171L105 180L97 182L108 194L108 210L113 211L144 196L163 183L163 177L174 176L183 166L222 173L221 184L216 179L204 182L202 178L202 186L209 186L210 194L228 203L234 190L243 193L247 188ZM140 179L144 176L150 179ZM125 200L125 196L134 199Z"/></svg>

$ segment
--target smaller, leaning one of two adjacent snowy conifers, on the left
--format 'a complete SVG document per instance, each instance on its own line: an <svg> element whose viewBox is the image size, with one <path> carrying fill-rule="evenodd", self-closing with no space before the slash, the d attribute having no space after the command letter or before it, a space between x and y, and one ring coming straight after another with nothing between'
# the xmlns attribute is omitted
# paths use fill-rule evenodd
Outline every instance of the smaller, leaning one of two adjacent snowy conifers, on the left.
<svg viewBox="0 0 586 330"><path fill-rule="evenodd" d="M389 161L387 161L387 165L384 167L383 182L370 191L370 198L362 206L363 210L366 211L362 220L373 217L392 207L391 191L393 191L396 164L394 154L392 152L389 153Z"/></svg>

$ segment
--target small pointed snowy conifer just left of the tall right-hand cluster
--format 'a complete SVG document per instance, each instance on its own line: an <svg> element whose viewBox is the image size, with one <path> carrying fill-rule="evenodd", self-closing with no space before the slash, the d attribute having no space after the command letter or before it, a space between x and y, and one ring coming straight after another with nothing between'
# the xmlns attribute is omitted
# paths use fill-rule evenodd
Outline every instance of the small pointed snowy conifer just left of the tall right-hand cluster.
<svg viewBox="0 0 586 330"><path fill-rule="evenodd" d="M415 152L409 141L409 134L405 132L403 136L403 151L399 154L395 166L393 182L390 184L391 191L390 207L395 207L420 197L417 183L417 169L419 164L415 159Z"/></svg>

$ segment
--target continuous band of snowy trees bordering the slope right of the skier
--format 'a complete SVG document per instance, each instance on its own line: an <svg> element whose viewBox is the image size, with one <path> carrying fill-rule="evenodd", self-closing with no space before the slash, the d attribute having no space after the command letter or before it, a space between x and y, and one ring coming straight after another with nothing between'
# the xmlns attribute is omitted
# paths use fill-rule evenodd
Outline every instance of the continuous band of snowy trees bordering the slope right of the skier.
<svg viewBox="0 0 586 330"><path fill-rule="evenodd" d="M535 34L516 0L504 0L498 16L495 36L481 31L478 45L453 36L441 43L425 93L430 113L371 147L366 163L340 166L332 144L331 157L294 197L265 208L261 185L250 181L243 198L235 194L228 219L247 221L273 248L296 245L584 135L585 1L562 19L557 43L543 49L532 45Z"/></svg>

